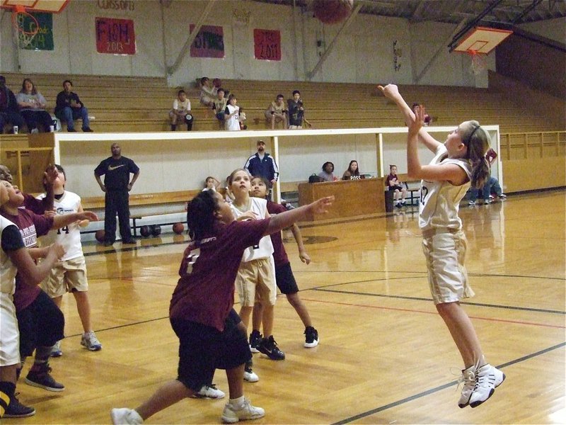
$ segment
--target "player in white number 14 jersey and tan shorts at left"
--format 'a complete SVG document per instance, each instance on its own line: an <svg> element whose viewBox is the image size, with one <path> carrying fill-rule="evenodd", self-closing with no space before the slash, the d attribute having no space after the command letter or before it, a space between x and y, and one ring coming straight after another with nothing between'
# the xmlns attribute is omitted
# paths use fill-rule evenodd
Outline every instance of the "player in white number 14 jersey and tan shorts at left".
<svg viewBox="0 0 566 425"><path fill-rule="evenodd" d="M83 212L81 198L75 193L65 190L67 175L62 166L55 165L59 175L54 182L54 210L57 215L68 215ZM45 193L37 199L45 198ZM73 222L62 229L51 230L46 236L40 239L42 246L50 245L54 242L61 244L65 249L65 255L52 268L50 276L43 282L42 289L55 302L59 309L63 295L67 292L72 293L76 300L76 309L83 325L83 335L81 346L89 351L98 351L102 344L96 338L96 334L91 327L91 304L88 301L88 280L86 279L86 262L81 246L81 230L79 227L86 227L88 220ZM57 341L52 348L51 356L59 357L63 355L61 341Z"/></svg>

